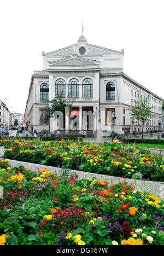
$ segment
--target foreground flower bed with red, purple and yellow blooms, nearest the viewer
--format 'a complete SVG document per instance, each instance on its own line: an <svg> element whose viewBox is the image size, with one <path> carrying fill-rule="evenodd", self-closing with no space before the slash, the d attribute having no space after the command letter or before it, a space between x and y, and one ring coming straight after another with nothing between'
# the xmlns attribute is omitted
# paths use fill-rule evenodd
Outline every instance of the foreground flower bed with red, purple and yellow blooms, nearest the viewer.
<svg viewBox="0 0 164 256"><path fill-rule="evenodd" d="M162 245L163 201L118 184L1 160L0 245Z"/></svg>

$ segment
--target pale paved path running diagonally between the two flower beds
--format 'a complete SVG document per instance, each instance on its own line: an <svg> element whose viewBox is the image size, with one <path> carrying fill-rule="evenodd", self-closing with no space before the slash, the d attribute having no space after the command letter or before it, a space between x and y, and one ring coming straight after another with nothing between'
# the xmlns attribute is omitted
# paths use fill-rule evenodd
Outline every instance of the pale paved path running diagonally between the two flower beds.
<svg viewBox="0 0 164 256"><path fill-rule="evenodd" d="M4 153L4 148L0 147L0 157ZM38 171L39 169L47 168L48 171L54 171L57 174L61 173L61 169L57 167L52 166L46 166L46 165L39 165L39 164L32 164L30 162L21 162L21 161L15 161L8 159L8 162L11 166L20 166L25 165L30 170ZM78 178L81 179L83 177L86 178L96 178L100 181L108 181L113 182L114 184L118 183L119 181L123 182L124 178L114 177L114 176L108 176L104 174L97 174L97 173L90 173L90 172L82 172L82 171L76 171L71 170L73 173L76 173L78 175ZM126 179L128 184L134 184L136 182L137 188L141 189L142 191L150 192L153 195L159 196L160 199L164 199L164 182L153 182L153 181L138 181L134 179Z"/></svg>

